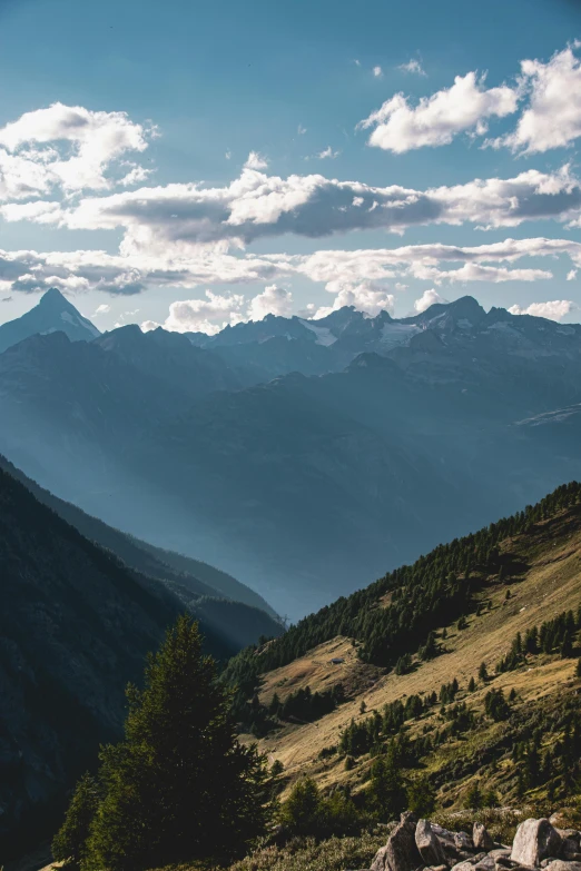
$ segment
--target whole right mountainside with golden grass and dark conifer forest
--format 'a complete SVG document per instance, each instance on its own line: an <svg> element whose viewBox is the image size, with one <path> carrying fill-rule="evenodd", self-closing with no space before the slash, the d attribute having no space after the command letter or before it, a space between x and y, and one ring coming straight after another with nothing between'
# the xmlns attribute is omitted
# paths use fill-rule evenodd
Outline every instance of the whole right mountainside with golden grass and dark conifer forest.
<svg viewBox="0 0 581 871"><path fill-rule="evenodd" d="M393 743L441 808L475 806L474 784L495 806L559 806L579 775L580 630L570 484L238 654L226 675L242 722L284 765L284 794L303 774L361 793Z"/></svg>

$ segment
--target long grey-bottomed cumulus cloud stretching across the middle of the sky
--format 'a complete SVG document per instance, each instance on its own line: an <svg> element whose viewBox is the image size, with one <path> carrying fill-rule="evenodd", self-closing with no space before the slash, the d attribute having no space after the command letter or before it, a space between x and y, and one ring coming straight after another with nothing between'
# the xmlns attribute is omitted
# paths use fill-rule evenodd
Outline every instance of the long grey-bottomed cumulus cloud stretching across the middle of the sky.
<svg viewBox="0 0 581 871"><path fill-rule="evenodd" d="M565 165L530 169L513 178L474 179L418 190L374 187L319 174L284 179L245 169L228 186L196 184L141 187L101 197L0 206L6 220L35 220L72 229L125 230L124 255L185 257L200 246L224 251L259 238L295 234L317 238L337 232L473 224L481 229L553 219L581 220L581 182Z"/></svg>

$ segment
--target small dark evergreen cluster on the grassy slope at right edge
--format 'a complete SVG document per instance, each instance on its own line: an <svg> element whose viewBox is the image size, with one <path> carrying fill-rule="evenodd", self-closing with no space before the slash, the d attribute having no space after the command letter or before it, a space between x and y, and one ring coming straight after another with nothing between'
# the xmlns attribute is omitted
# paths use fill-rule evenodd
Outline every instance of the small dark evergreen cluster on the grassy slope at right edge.
<svg viewBox="0 0 581 871"><path fill-rule="evenodd" d="M540 626L531 626L524 637L520 632L512 640L509 653L496 663L496 672L511 672L526 661L526 654L560 653L563 659L572 656L577 633L581 628L581 605L577 613L563 611Z"/></svg>

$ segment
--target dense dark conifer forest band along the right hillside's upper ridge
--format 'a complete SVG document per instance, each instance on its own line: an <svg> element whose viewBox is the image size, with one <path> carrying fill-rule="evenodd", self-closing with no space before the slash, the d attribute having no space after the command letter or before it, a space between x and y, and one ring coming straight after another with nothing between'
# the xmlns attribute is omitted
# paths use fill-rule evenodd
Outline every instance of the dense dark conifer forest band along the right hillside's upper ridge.
<svg viewBox="0 0 581 871"><path fill-rule="evenodd" d="M246 700L255 693L260 674L293 662L337 635L355 640L360 659L374 665L400 664L405 669L407 654L420 653L422 659L435 655L437 645L431 633L481 608L483 604L476 605L475 594L491 574L508 580L522 571L514 554L502 552L500 544L580 504L581 484L562 485L536 505L440 545L413 565L342 596L263 647L247 647L225 671L225 680L237 686L239 715L247 717ZM258 717L258 709L253 710Z"/></svg>

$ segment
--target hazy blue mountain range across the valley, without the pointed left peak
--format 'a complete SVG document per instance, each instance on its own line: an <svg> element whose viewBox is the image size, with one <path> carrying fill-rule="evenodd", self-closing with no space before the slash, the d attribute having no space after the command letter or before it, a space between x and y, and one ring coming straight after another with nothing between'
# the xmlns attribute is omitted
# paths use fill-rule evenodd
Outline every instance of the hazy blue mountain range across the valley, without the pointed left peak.
<svg viewBox="0 0 581 871"><path fill-rule="evenodd" d="M0 451L295 618L580 476L580 385L581 326L471 297L213 337L46 331L0 355Z"/></svg>

